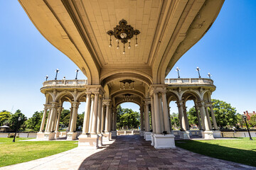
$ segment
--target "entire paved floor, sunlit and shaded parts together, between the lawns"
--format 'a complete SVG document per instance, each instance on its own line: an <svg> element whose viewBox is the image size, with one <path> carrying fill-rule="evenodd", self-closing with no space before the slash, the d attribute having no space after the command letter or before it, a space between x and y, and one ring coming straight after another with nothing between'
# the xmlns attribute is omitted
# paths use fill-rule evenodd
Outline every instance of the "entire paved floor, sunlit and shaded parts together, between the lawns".
<svg viewBox="0 0 256 170"><path fill-rule="evenodd" d="M119 136L100 149L77 147L50 157L4 169L256 169L188 152L185 149L154 149L138 135ZM110 146L108 146L110 145Z"/></svg>

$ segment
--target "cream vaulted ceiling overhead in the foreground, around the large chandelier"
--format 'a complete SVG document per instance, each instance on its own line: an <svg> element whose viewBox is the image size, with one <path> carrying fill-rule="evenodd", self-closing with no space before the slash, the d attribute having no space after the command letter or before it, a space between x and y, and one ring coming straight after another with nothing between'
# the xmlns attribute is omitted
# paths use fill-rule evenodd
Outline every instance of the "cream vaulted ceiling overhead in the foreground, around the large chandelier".
<svg viewBox="0 0 256 170"><path fill-rule="evenodd" d="M208 31L224 0L18 0L40 33L100 84L102 75L137 70L163 84L178 59ZM117 50L107 30L124 18L139 47ZM104 73L104 74L102 74Z"/></svg>

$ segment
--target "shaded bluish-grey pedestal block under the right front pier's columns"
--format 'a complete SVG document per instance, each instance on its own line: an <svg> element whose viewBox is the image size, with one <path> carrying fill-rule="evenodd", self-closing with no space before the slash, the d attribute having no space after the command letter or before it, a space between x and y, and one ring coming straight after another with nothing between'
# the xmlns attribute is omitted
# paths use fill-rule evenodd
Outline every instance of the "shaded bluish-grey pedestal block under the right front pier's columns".
<svg viewBox="0 0 256 170"><path fill-rule="evenodd" d="M154 148L156 149L175 149L174 135L154 134Z"/></svg>

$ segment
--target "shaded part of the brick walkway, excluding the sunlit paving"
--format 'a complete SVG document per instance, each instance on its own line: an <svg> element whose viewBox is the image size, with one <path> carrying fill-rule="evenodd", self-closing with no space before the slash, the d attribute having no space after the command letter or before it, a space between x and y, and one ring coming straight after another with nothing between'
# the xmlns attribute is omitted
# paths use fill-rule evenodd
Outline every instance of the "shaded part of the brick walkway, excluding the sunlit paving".
<svg viewBox="0 0 256 170"><path fill-rule="evenodd" d="M82 162L79 169L256 169L195 154L185 149L154 149L142 137L119 136L102 152Z"/></svg>

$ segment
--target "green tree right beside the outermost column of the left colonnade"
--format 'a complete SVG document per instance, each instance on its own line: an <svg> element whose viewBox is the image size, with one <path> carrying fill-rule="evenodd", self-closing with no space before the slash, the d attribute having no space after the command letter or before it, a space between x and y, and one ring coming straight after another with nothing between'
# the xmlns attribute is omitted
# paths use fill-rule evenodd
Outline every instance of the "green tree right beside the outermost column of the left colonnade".
<svg viewBox="0 0 256 170"><path fill-rule="evenodd" d="M35 113L33 113L31 118L28 118L28 120L26 120L25 122L26 128L39 131L41 127L42 118L43 118L43 111L41 112L36 111Z"/></svg>

